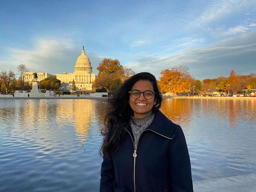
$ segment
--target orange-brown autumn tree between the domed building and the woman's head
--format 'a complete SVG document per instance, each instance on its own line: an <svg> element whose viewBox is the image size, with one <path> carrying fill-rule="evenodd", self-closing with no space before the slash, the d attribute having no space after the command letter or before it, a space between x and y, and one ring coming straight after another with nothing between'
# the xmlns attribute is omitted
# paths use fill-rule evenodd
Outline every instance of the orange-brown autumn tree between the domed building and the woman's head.
<svg viewBox="0 0 256 192"><path fill-rule="evenodd" d="M116 89L126 79L134 75L131 69L120 65L117 59L112 60L110 58L104 58L97 70L99 71L98 77L92 87L94 90L104 88L107 92Z"/></svg>

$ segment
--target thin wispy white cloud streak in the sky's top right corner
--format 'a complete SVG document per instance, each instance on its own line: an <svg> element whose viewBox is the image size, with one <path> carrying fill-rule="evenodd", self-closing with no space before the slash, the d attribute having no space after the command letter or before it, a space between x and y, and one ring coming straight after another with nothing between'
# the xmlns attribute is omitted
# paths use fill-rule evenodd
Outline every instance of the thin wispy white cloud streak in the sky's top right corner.
<svg viewBox="0 0 256 192"><path fill-rule="evenodd" d="M209 5L193 24L196 26L207 25L233 14L234 12L238 12L242 8L248 7L252 4L255 4L255 2L251 0L210 1Z"/></svg>

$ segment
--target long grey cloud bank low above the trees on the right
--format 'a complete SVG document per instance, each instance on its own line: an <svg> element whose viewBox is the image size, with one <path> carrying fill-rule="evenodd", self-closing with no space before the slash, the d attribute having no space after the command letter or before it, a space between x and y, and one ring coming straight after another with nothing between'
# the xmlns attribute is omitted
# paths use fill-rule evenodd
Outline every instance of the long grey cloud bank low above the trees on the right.
<svg viewBox="0 0 256 192"><path fill-rule="evenodd" d="M150 71L157 77L161 70L179 65L187 65L196 78L202 79L226 75L232 69L238 69L238 74L249 74L256 72L255 34L256 31L222 40L207 48L186 49L162 57L140 56L126 65L135 72ZM247 39L246 44L243 39Z"/></svg>

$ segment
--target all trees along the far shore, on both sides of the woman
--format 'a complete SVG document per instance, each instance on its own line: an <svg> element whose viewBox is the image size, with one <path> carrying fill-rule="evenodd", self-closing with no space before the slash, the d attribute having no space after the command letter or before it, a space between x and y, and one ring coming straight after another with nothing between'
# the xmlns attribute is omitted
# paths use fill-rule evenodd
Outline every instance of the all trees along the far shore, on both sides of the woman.
<svg viewBox="0 0 256 192"><path fill-rule="evenodd" d="M28 72L24 64L17 67L18 73L14 71L0 70L0 91L14 92L15 90L31 90L32 83L26 82L26 73ZM134 71L122 66L117 59L104 58L97 67L98 77L93 82L93 90L105 90L112 92L130 76ZM219 76L213 79L204 79L202 81L195 79L189 72L187 66L177 66L161 71L161 77L158 86L162 93L203 93L203 92L230 92L238 93L242 89L256 89L256 74L237 75L234 70L230 72L229 77ZM46 78L40 81L40 88L46 90L58 90L60 80L56 78ZM75 90L75 82L72 82L72 90Z"/></svg>

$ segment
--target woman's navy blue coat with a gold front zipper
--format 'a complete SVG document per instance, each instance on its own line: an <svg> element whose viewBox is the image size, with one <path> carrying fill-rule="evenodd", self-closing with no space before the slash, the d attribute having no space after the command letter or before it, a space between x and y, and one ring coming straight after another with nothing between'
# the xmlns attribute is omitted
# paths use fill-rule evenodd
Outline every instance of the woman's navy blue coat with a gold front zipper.
<svg viewBox="0 0 256 192"><path fill-rule="evenodd" d="M160 110L134 148L129 127L112 160L103 157L100 192L193 192L182 129Z"/></svg>

